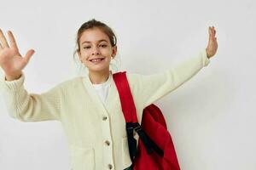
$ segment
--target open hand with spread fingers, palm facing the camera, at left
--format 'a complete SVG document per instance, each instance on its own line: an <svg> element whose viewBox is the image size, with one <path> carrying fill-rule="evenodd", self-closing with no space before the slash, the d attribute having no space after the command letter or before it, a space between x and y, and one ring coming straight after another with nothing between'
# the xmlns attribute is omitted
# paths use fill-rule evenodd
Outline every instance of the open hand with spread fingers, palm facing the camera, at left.
<svg viewBox="0 0 256 170"><path fill-rule="evenodd" d="M28 50L25 57L22 57L11 31L8 31L8 36L10 46L3 35L3 31L0 29L0 66L5 72L6 80L12 81L20 77L21 71L32 57L32 54L34 54L34 50Z"/></svg>

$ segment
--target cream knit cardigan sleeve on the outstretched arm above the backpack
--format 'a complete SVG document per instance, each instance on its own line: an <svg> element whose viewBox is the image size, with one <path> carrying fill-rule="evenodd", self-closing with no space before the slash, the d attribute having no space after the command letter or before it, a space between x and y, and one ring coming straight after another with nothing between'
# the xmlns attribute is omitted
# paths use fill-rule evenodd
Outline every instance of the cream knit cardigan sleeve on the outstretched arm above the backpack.
<svg viewBox="0 0 256 170"><path fill-rule="evenodd" d="M141 75L140 86L143 108L154 101L171 93L174 89L187 82L191 77L209 64L206 50L201 50L189 59L184 60L175 68L153 75Z"/></svg>

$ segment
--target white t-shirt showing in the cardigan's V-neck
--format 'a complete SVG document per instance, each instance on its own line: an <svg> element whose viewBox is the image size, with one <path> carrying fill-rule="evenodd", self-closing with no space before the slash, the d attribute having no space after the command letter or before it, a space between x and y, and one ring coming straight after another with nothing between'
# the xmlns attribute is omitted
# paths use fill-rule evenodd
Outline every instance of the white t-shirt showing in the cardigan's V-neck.
<svg viewBox="0 0 256 170"><path fill-rule="evenodd" d="M102 84L92 84L93 87L96 89L96 92L99 94L103 104L105 104L105 101L107 99L108 89L110 87L110 82L112 78L113 78L112 72L109 71L109 77L106 82L103 82Z"/></svg>

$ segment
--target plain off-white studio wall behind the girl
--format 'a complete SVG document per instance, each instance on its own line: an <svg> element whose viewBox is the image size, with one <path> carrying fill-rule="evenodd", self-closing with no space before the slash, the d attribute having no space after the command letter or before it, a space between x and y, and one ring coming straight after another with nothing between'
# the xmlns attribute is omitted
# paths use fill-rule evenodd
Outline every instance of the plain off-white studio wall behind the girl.
<svg viewBox="0 0 256 170"><path fill-rule="evenodd" d="M118 38L120 71L164 72L207 47L215 26L218 52L195 77L158 100L183 170L255 170L256 2L3 1L0 28L14 32L26 66L25 88L43 93L77 77L76 32L95 18ZM79 97L79 96L78 96ZM20 122L0 98L0 169L69 170L61 123Z"/></svg>

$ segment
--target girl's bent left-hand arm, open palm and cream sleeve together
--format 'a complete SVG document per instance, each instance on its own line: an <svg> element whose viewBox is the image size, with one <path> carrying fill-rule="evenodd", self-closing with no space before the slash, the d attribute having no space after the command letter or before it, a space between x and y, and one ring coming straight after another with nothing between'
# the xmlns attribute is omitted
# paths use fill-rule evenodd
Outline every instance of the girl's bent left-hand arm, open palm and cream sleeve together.
<svg viewBox="0 0 256 170"><path fill-rule="evenodd" d="M0 30L0 66L4 71L0 80L0 89L10 116L23 122L38 122L60 119L61 88L56 86L44 94L28 94L23 86L25 77L23 68L32 57L29 50L25 57L20 55L15 37L8 31L10 46Z"/></svg>

